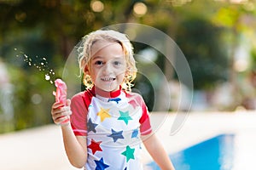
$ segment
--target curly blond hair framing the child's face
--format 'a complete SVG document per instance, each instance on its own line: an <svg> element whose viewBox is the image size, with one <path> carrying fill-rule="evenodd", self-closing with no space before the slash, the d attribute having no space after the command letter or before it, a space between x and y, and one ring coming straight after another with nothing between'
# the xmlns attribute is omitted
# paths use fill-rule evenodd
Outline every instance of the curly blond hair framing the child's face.
<svg viewBox="0 0 256 170"><path fill-rule="evenodd" d="M133 57L133 47L130 40L125 34L119 31L98 30L92 31L90 34L83 37L81 45L78 48L80 75L84 73L84 68L88 67L90 69L92 57L91 47L98 41L118 42L122 46L127 65L125 79L121 87L125 89L125 91L131 91L131 87L133 86L131 82L134 81L137 75L136 61ZM83 82L86 89L90 89L94 86L90 75L86 73L84 73Z"/></svg>

